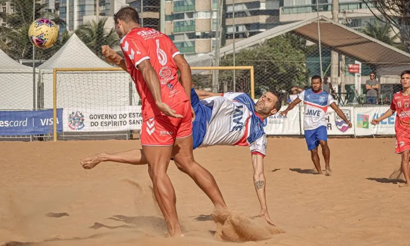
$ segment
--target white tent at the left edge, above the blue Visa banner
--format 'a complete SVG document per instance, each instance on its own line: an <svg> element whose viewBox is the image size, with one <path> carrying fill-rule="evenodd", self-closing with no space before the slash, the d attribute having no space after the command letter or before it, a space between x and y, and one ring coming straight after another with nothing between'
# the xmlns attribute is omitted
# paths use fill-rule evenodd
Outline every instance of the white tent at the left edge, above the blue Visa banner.
<svg viewBox="0 0 410 246"><path fill-rule="evenodd" d="M0 110L32 109L33 68L19 64L3 50L0 60ZM35 77L37 80L38 76Z"/></svg>

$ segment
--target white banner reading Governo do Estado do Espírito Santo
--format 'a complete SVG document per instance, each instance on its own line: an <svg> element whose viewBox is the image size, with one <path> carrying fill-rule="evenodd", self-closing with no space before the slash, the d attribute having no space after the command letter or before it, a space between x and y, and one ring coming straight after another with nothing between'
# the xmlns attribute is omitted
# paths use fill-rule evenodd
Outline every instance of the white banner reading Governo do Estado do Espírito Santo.
<svg viewBox="0 0 410 246"><path fill-rule="evenodd" d="M139 130L141 125L141 106L65 108L63 110L63 131L65 132Z"/></svg>

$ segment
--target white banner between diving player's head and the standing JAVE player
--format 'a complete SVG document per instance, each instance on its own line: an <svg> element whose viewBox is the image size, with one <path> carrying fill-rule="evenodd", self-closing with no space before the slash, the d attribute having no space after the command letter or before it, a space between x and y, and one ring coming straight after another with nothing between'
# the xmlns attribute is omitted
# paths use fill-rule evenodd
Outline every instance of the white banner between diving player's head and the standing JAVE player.
<svg viewBox="0 0 410 246"><path fill-rule="evenodd" d="M280 111L286 108L287 105L282 106ZM271 115L264 124L267 124L263 128L267 135L300 135L299 107L293 108L286 116L279 116L279 113Z"/></svg>

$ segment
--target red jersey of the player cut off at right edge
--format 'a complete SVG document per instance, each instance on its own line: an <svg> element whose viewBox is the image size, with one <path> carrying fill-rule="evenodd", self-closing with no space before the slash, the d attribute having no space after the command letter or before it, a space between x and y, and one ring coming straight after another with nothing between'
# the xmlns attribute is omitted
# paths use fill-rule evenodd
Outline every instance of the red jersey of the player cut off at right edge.
<svg viewBox="0 0 410 246"><path fill-rule="evenodd" d="M410 95L403 95L401 91L393 95L390 110L396 111L396 137L410 138Z"/></svg>

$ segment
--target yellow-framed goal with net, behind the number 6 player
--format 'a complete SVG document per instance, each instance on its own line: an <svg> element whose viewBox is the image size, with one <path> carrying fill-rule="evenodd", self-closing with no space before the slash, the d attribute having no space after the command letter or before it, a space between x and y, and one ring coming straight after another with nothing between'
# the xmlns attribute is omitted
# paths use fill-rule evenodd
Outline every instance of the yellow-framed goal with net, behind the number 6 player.
<svg viewBox="0 0 410 246"><path fill-rule="evenodd" d="M253 66L191 67L191 70L197 89L215 89L216 85L218 92L234 91L236 85L236 92L255 98ZM160 74L160 79L167 79L166 72ZM130 75L121 68L54 68L52 83L50 71L48 79L42 77L42 84L43 108L53 108L53 141L57 141L57 133L61 132L64 138L84 139L97 134L124 135L140 129L139 96ZM132 120L131 115L134 115Z"/></svg>

